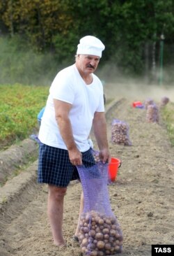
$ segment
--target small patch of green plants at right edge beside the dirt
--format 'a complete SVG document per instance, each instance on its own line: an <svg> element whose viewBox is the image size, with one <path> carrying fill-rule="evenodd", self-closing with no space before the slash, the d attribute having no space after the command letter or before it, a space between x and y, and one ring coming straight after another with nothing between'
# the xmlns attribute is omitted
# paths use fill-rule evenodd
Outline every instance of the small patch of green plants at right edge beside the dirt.
<svg viewBox="0 0 174 256"><path fill-rule="evenodd" d="M166 125L171 145L174 146L174 103L169 102L164 108L161 108L161 115Z"/></svg>

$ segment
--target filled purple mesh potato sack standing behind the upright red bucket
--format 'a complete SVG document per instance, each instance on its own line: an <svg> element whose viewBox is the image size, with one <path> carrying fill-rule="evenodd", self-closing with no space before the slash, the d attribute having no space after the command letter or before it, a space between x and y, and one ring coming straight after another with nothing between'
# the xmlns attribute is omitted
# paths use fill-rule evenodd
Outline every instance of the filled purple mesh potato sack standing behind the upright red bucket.
<svg viewBox="0 0 174 256"><path fill-rule="evenodd" d="M113 119L111 123L111 141L118 145L132 145L129 139L129 125L127 122Z"/></svg>

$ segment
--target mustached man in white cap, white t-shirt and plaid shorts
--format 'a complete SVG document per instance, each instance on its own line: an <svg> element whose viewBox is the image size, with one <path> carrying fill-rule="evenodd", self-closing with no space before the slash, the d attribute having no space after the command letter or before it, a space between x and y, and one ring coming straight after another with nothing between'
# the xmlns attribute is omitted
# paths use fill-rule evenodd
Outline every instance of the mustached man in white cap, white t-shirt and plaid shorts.
<svg viewBox="0 0 174 256"><path fill-rule="evenodd" d="M56 246L65 245L62 234L63 198L70 180L79 179L76 166L95 164L88 143L92 125L100 159L110 161L103 87L93 74L104 48L94 36L81 38L75 64L58 72L54 78L42 116L38 183L48 184L47 214ZM83 197L79 214L81 211Z"/></svg>

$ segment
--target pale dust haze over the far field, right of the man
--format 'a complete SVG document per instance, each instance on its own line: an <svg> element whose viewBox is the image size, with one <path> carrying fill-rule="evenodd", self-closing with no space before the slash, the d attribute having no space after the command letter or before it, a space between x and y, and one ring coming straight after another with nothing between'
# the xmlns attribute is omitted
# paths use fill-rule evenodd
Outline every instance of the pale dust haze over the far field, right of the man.
<svg viewBox="0 0 174 256"><path fill-rule="evenodd" d="M132 101L144 101L145 99L153 99L161 101L162 97L168 97L170 101L174 101L174 87L163 83L150 83L147 77L143 78L130 78L122 76L116 67L104 66L100 69L97 76L103 82L104 94L106 99L120 99L125 97ZM164 73L166 78L167 73ZM157 74L157 78L159 73ZM156 79L158 80L158 79Z"/></svg>

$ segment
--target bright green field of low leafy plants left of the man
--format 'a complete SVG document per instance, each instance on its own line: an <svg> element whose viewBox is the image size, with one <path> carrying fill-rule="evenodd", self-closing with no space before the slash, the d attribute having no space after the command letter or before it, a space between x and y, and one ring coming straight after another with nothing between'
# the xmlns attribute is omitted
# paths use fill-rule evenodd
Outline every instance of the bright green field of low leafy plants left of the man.
<svg viewBox="0 0 174 256"><path fill-rule="evenodd" d="M43 86L0 85L1 148L38 129L37 115L46 104L48 92Z"/></svg>

